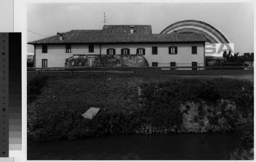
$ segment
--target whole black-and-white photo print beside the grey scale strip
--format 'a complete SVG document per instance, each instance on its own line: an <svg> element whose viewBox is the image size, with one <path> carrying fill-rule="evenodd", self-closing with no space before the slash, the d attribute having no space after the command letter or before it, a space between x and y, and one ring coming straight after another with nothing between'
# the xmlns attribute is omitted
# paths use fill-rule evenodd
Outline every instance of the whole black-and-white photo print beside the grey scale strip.
<svg viewBox="0 0 256 162"><path fill-rule="evenodd" d="M27 160L253 160L254 3L27 3Z"/></svg>

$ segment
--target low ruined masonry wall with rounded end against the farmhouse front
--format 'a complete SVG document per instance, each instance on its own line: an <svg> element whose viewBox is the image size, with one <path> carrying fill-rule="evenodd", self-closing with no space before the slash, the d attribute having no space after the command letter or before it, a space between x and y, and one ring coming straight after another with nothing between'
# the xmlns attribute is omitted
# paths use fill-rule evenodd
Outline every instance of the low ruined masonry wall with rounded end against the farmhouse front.
<svg viewBox="0 0 256 162"><path fill-rule="evenodd" d="M101 61L100 61L101 60ZM73 55L65 67L148 67L144 56L137 55Z"/></svg>

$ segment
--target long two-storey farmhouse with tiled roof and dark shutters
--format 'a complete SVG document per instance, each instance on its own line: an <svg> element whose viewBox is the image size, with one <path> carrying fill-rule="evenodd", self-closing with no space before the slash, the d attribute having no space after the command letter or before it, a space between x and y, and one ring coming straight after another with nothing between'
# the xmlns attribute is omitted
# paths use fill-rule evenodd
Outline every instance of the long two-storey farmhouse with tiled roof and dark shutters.
<svg viewBox="0 0 256 162"><path fill-rule="evenodd" d="M34 45L34 67L204 66L204 34L152 34L151 25L71 30Z"/></svg>

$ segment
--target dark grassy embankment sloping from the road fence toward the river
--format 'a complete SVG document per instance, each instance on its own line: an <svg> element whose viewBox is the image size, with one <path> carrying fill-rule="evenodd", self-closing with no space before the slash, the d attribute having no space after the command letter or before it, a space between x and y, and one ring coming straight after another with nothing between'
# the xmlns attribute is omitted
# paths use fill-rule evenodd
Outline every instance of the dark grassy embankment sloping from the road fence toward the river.
<svg viewBox="0 0 256 162"><path fill-rule="evenodd" d="M138 87L145 94L143 107ZM28 138L38 142L130 133L143 123L180 126L180 101L228 99L245 114L253 112L253 85L234 79L29 74L27 95ZM90 107L102 109L93 120L86 120L81 114ZM230 116L233 120L236 116Z"/></svg>

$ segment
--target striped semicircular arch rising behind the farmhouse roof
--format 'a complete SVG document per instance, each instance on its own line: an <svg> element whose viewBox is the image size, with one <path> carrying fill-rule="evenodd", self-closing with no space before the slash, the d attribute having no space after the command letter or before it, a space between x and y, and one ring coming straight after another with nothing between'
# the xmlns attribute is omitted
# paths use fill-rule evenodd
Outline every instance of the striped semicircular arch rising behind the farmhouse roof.
<svg viewBox="0 0 256 162"><path fill-rule="evenodd" d="M206 22L198 20L183 20L175 22L165 28L160 34L169 34L174 31L177 33L201 33L209 40L209 43L230 43L224 34L221 33L217 28Z"/></svg>

